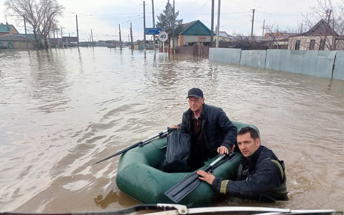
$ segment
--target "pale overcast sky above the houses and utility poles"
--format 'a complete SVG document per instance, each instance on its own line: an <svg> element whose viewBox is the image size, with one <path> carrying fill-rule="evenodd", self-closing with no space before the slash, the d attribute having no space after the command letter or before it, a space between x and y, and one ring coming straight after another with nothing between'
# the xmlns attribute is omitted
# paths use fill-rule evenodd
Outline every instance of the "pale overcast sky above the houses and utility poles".
<svg viewBox="0 0 344 215"><path fill-rule="evenodd" d="M24 24L17 23L12 17L5 17L3 6L5 0L0 0L0 22L8 21L13 24L19 33L25 33ZM332 0L333 3L341 0ZM93 39L111 40L119 39L118 24L121 26L123 41L128 41L130 22L133 28L133 40L143 39L143 1L139 0L58 0L66 9L64 17L60 18L63 35L76 36L75 15L78 15L79 40L86 41L91 29ZM166 0L154 0L155 23L157 15L165 8ZM152 24L152 1L146 3L146 28ZM265 23L279 24L281 28L287 26L297 27L302 22L302 13L310 12L314 0L222 0L220 13L220 31L228 34L251 32L251 9L256 9L254 19L254 33L262 35L261 27ZM173 0L171 1L173 4ZM214 30L217 23L218 2L215 0ZM175 11L179 11L178 19L183 23L200 20L209 29L211 28L211 0L175 0ZM27 26L28 29L32 27ZM30 31L29 31L30 32ZM32 33L32 32L30 32ZM59 37L61 31L59 32ZM146 39L150 39L147 35Z"/></svg>

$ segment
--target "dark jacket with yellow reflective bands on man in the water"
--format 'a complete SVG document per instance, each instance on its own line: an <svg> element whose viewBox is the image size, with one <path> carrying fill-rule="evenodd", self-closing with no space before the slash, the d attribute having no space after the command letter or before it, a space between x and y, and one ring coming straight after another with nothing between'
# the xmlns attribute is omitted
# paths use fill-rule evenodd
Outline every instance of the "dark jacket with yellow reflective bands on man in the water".
<svg viewBox="0 0 344 215"><path fill-rule="evenodd" d="M241 166L239 181L215 178L212 188L220 193L262 202L289 200L284 163L270 149L260 146L249 159L243 156ZM245 170L247 174L241 174Z"/></svg>

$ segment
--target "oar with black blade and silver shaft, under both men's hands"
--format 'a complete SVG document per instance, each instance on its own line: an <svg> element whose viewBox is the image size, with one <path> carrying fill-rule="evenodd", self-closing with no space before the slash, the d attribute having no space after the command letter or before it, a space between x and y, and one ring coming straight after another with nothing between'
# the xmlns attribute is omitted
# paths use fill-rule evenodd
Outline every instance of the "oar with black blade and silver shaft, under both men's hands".
<svg viewBox="0 0 344 215"><path fill-rule="evenodd" d="M203 171L208 172L212 169L219 161L221 161L227 154L223 154L218 157L215 161L211 164L207 165ZM234 152L230 153L229 159L234 156ZM182 198L184 198L187 194L189 194L193 189L195 189L198 184L201 183L201 180L198 179L199 175L197 175L197 171L192 173L191 175L186 176L181 182L171 187L169 190L165 192L165 195L169 197L173 202L177 203Z"/></svg>

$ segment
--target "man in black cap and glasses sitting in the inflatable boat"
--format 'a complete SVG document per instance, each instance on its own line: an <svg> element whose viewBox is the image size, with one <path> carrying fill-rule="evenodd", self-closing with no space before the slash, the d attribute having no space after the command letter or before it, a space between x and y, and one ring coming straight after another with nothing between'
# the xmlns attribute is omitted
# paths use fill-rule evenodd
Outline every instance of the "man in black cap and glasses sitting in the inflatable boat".
<svg viewBox="0 0 344 215"><path fill-rule="evenodd" d="M201 89L190 89L186 98L190 108L184 112L180 127L172 128L191 132L190 164L197 169L217 153L233 151L237 128L221 108L204 104Z"/></svg>

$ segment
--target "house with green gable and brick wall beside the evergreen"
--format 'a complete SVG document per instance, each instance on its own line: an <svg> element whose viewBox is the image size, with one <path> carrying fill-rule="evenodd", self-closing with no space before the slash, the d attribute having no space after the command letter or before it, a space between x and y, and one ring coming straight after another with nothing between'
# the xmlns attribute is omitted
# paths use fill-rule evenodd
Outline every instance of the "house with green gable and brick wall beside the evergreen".
<svg viewBox="0 0 344 215"><path fill-rule="evenodd" d="M200 20L182 24L181 31L176 35L176 45L183 46L195 42L210 42L211 30Z"/></svg>

